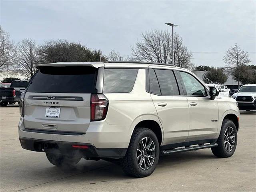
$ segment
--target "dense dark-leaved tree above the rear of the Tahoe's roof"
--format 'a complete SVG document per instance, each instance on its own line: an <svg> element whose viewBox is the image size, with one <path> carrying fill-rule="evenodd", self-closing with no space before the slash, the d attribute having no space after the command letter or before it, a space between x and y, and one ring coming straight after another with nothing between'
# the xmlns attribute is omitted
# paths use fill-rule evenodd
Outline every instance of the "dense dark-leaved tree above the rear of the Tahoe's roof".
<svg viewBox="0 0 256 192"><path fill-rule="evenodd" d="M100 50L91 50L81 43L68 40L48 41L39 49L40 63L106 61Z"/></svg>

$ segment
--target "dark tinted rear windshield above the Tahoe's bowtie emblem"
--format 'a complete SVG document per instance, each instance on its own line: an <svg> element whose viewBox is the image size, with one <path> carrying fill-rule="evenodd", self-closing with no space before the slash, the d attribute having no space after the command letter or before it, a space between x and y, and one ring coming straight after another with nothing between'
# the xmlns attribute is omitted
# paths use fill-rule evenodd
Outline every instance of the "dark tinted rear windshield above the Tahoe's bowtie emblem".
<svg viewBox="0 0 256 192"><path fill-rule="evenodd" d="M38 70L27 92L96 93L97 68L91 66L44 66Z"/></svg>

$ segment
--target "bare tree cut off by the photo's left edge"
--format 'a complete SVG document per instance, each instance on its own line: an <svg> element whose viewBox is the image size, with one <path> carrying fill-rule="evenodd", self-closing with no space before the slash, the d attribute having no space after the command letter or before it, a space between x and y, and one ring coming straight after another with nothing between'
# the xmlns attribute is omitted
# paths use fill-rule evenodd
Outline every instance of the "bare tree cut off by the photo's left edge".
<svg viewBox="0 0 256 192"><path fill-rule="evenodd" d="M9 34L0 26L0 71L8 70L8 63L14 54L14 44L10 41Z"/></svg>

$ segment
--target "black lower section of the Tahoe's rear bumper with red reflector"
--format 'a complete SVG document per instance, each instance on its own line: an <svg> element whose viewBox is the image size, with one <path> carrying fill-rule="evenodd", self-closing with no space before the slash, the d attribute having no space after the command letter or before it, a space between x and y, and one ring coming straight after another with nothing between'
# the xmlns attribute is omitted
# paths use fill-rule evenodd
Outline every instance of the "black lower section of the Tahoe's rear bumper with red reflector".
<svg viewBox="0 0 256 192"><path fill-rule="evenodd" d="M39 140L20 137L22 148L37 152L51 152L55 154L80 154L85 158L122 158L126 154L127 148L95 148L93 144L88 143L73 143ZM75 146L87 146L88 148L74 148Z"/></svg>

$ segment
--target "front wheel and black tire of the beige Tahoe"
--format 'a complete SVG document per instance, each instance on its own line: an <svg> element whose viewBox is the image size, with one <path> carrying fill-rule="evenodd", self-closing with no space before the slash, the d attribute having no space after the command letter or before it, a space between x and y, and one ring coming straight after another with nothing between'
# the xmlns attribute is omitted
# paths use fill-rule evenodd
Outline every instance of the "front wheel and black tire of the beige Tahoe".
<svg viewBox="0 0 256 192"><path fill-rule="evenodd" d="M229 134L229 132L231 132L231 134ZM217 144L217 147L212 148L212 153L216 157L227 158L234 154L237 145L237 130L234 122L229 119L223 120Z"/></svg>

